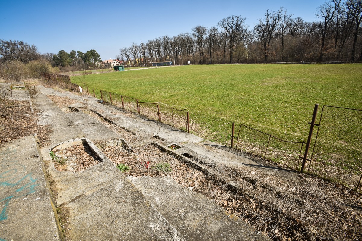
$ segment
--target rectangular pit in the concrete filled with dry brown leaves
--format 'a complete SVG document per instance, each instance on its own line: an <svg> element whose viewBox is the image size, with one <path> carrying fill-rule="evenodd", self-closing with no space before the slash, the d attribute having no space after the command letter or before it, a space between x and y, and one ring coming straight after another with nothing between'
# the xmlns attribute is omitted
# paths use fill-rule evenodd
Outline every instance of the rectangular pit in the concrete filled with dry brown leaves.
<svg viewBox="0 0 362 241"><path fill-rule="evenodd" d="M81 172L101 162L101 159L84 143L52 151L50 156L58 171Z"/></svg>

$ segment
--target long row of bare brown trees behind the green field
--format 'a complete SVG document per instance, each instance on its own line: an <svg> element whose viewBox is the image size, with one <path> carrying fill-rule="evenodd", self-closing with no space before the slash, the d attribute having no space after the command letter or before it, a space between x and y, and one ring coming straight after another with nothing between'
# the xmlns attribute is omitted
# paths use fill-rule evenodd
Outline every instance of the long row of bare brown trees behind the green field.
<svg viewBox="0 0 362 241"><path fill-rule="evenodd" d="M327 0L306 22L281 7L266 10L251 29L242 16L229 16L210 28L197 25L190 33L132 42L118 60L143 65L270 63L299 61L361 61L361 0Z"/></svg>

